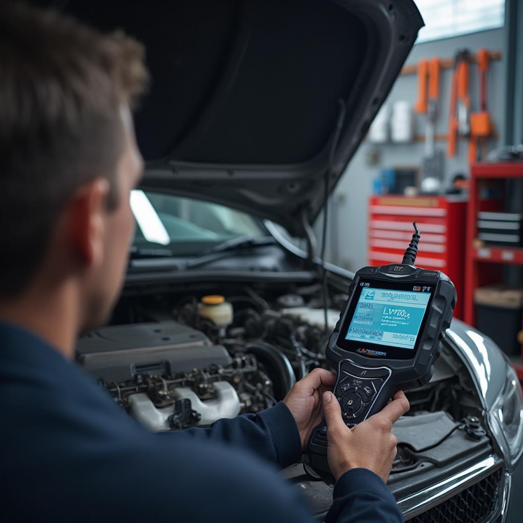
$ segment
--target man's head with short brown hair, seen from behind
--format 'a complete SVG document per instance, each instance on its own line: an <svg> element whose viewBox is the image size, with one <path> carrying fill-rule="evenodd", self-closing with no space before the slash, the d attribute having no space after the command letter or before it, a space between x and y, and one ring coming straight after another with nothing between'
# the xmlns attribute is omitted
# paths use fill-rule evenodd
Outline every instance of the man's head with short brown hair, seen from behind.
<svg viewBox="0 0 523 523"><path fill-rule="evenodd" d="M67 283L78 328L121 286L141 176L130 108L142 46L51 12L0 8L0 302Z"/></svg>

